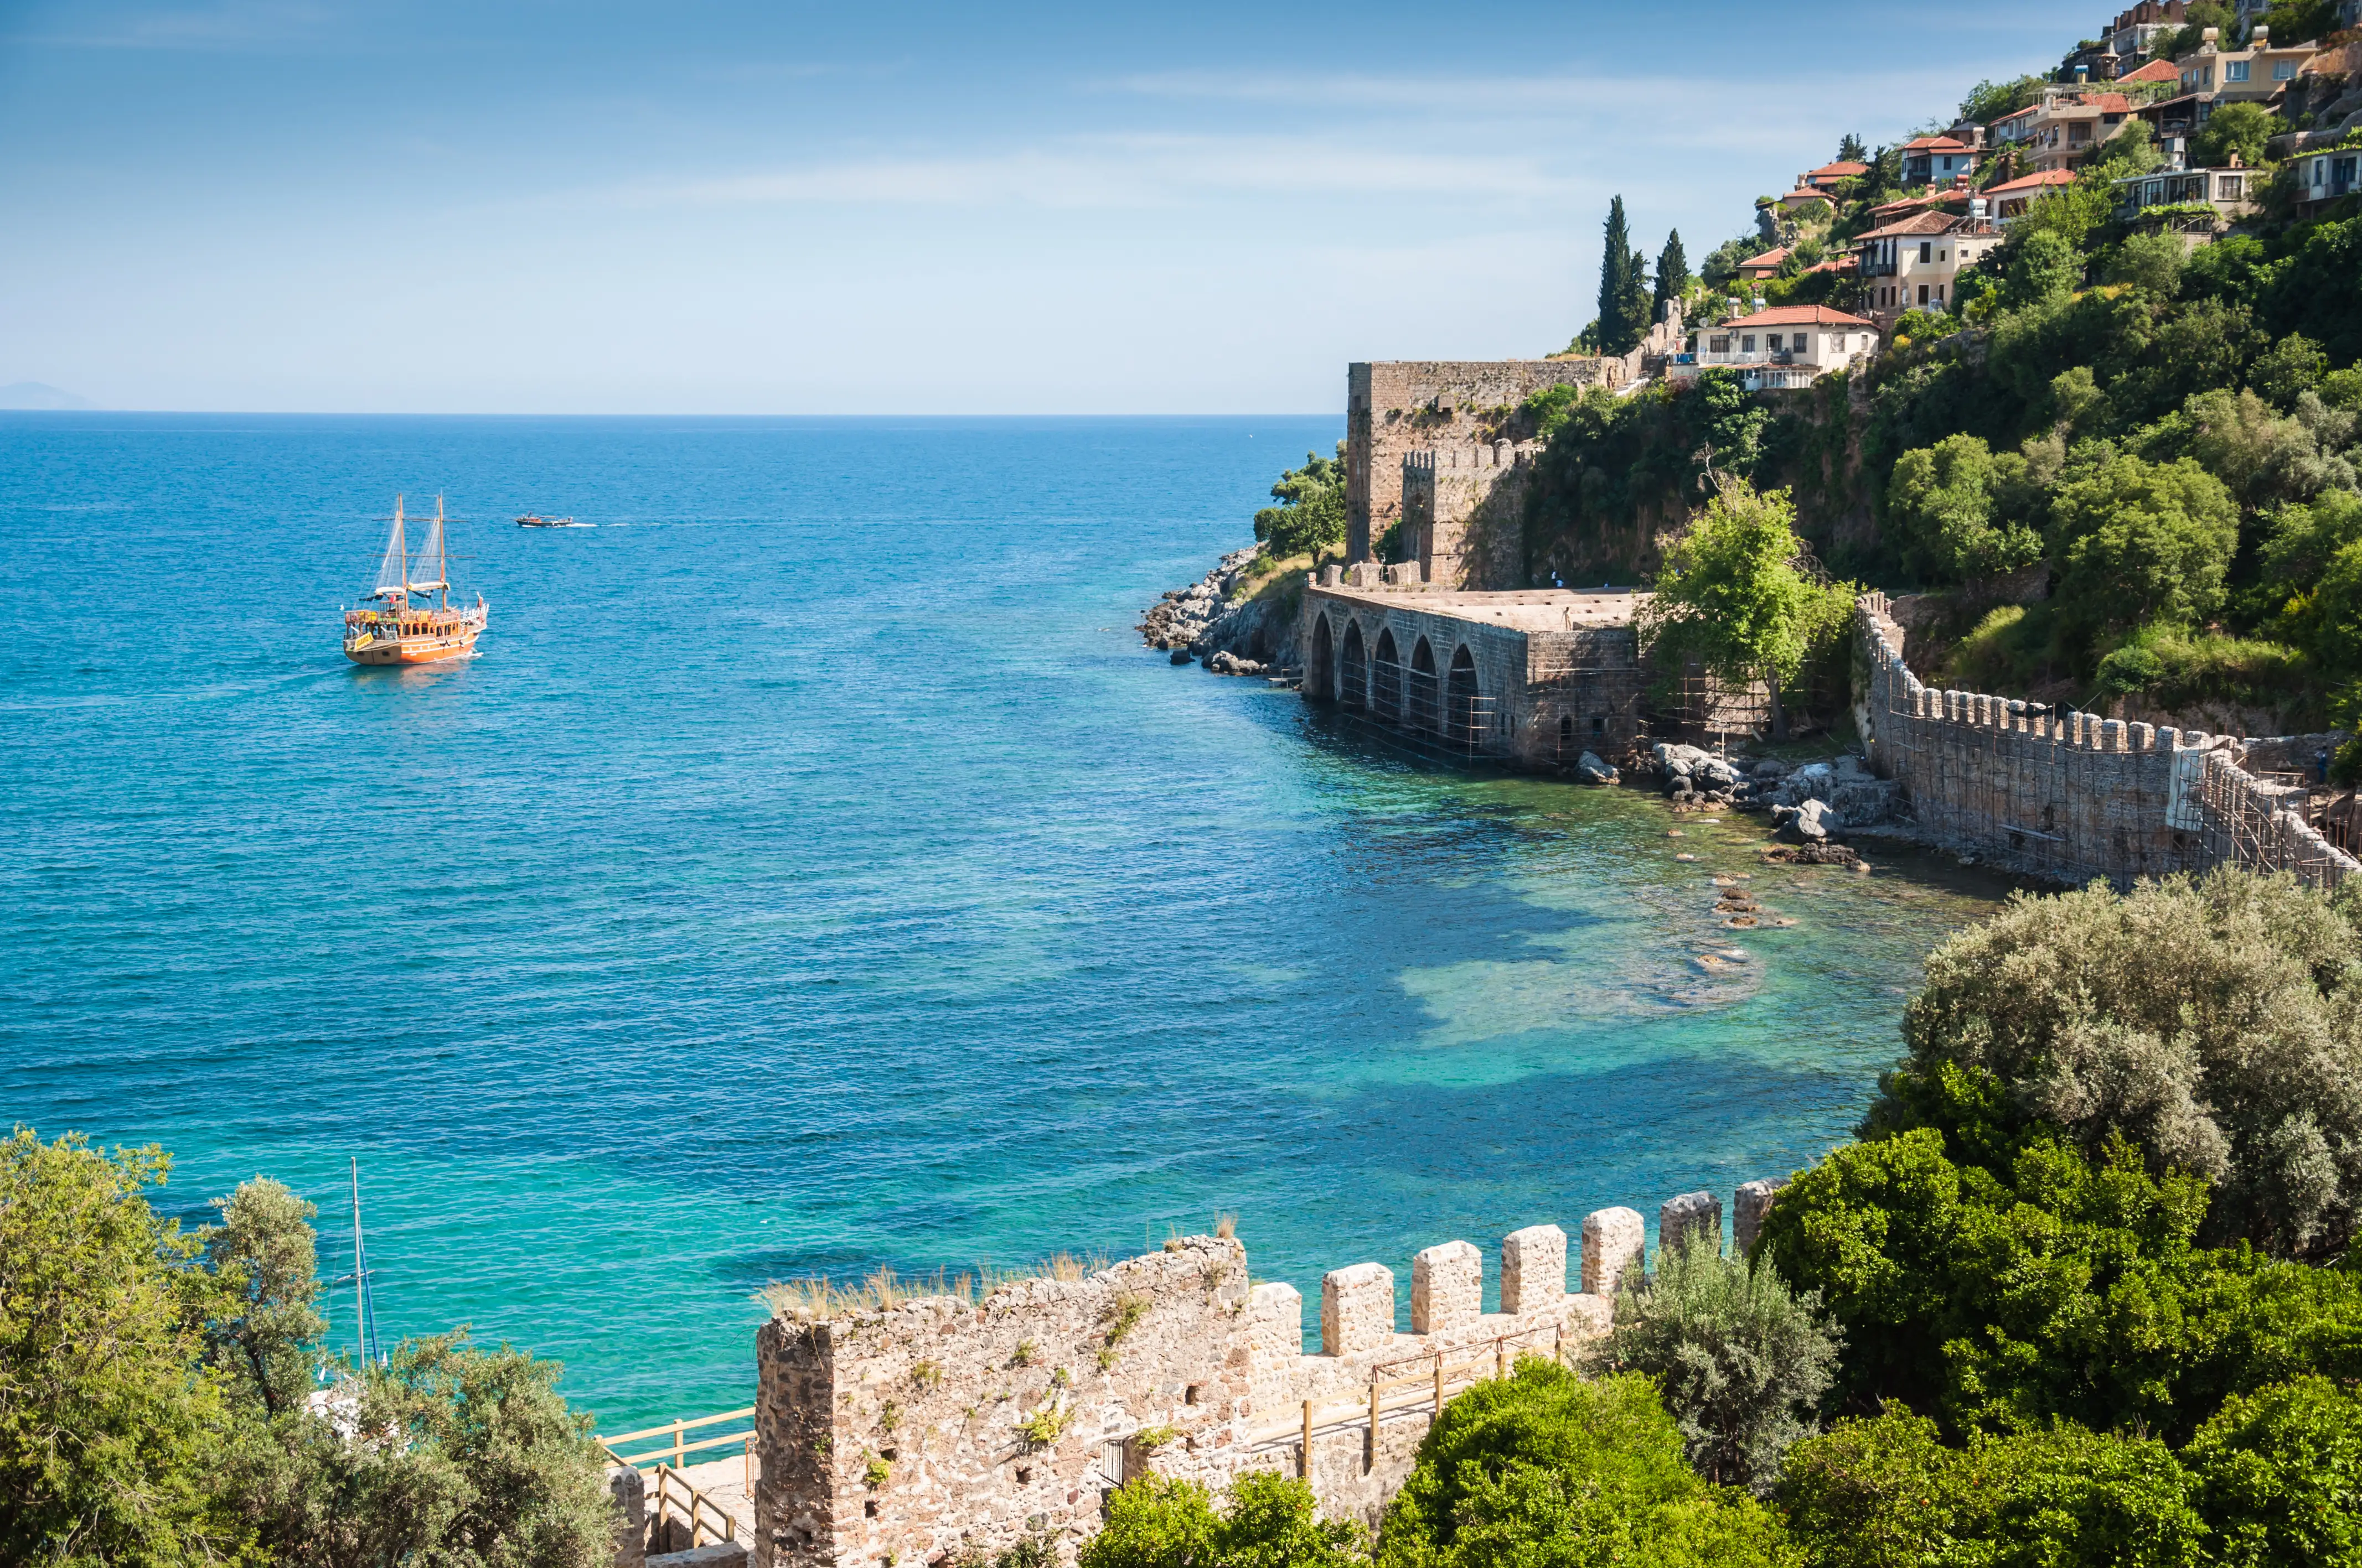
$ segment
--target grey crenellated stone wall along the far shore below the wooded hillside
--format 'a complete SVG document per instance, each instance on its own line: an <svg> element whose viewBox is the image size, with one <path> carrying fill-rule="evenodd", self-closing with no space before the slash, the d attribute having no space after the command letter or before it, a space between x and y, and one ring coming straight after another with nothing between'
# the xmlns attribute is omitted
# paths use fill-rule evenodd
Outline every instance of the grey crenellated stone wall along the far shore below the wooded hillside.
<svg viewBox="0 0 2362 1568"><path fill-rule="evenodd" d="M1923 843L2067 883L2128 886L2225 862L2317 883L2357 869L2305 824L2301 786L2249 772L2251 758L2303 756L2336 737L2249 741L1939 692L1904 664L1883 593L1857 602L1854 628L1866 666L1854 720L1871 767L1901 784Z"/></svg>

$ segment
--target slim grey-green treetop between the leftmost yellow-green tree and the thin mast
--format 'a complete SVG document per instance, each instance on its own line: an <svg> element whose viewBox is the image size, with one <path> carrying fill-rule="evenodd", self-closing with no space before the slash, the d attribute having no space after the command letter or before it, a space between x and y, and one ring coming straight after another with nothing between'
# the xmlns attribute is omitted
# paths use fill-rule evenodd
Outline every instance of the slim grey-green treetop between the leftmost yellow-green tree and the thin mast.
<svg viewBox="0 0 2362 1568"><path fill-rule="evenodd" d="M328 1329L314 1308L319 1209L269 1176L239 1183L215 1209L222 1223L201 1233L205 1268L220 1285L205 1358L265 1417L295 1410L312 1393L319 1337Z"/></svg>

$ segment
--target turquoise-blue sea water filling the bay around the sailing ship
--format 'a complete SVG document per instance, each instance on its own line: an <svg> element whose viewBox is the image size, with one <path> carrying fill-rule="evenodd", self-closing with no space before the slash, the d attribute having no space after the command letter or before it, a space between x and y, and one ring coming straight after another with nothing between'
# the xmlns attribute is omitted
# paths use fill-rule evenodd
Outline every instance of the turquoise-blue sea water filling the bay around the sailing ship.
<svg viewBox="0 0 2362 1568"><path fill-rule="evenodd" d="M0 416L0 1117L189 1219L291 1181L331 1270L359 1157L385 1325L609 1431L746 1403L765 1280L1228 1211L1408 1311L1417 1247L1819 1155L1996 888L1760 869L1797 923L1729 933L1750 824L1136 647L1335 437ZM338 654L397 489L475 520L470 664Z"/></svg>

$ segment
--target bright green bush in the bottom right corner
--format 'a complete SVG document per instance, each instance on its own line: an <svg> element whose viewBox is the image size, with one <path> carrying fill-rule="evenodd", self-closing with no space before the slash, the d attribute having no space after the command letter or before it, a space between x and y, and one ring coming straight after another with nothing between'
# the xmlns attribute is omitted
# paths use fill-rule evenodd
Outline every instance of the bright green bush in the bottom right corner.
<svg viewBox="0 0 2362 1568"><path fill-rule="evenodd" d="M2327 1377L2230 1400L2182 1459L2227 1568L2362 1561L2362 1400Z"/></svg>

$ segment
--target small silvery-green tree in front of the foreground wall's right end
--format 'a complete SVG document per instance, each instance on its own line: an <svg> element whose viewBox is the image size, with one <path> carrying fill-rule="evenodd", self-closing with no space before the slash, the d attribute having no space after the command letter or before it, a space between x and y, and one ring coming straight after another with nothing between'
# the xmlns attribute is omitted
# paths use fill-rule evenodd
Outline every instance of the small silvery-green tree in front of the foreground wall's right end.
<svg viewBox="0 0 2362 1568"><path fill-rule="evenodd" d="M1790 1292L1769 1259L1727 1259L1691 1235L1618 1292L1594 1358L1656 1379L1701 1476L1769 1492L1781 1455L1814 1431L1838 1344L1819 1296Z"/></svg>

